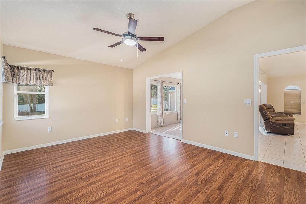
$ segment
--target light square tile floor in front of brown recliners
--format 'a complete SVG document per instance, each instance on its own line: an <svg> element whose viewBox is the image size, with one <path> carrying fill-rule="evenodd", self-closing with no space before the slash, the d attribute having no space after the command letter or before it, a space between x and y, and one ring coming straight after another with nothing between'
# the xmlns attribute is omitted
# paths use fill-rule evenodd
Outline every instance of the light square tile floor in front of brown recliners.
<svg viewBox="0 0 306 204"><path fill-rule="evenodd" d="M306 172L306 125L295 124L294 133L259 132L259 161Z"/></svg>

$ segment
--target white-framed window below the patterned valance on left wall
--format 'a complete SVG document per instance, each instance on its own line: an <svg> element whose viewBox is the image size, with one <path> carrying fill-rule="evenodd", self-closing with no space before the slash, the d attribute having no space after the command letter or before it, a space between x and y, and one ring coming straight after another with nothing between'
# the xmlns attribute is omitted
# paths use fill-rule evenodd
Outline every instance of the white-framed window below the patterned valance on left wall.
<svg viewBox="0 0 306 204"><path fill-rule="evenodd" d="M15 84L15 119L48 117L48 86Z"/></svg>

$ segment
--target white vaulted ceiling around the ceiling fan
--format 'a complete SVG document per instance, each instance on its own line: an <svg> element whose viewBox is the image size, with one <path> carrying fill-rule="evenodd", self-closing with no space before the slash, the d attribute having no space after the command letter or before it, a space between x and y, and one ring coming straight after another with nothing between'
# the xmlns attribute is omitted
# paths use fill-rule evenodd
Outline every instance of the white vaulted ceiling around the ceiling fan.
<svg viewBox="0 0 306 204"><path fill-rule="evenodd" d="M246 1L1 1L3 44L126 68L179 42ZM120 37L92 30L127 32L127 13L138 20L138 36L163 36L164 42L141 41L136 47L108 46Z"/></svg>

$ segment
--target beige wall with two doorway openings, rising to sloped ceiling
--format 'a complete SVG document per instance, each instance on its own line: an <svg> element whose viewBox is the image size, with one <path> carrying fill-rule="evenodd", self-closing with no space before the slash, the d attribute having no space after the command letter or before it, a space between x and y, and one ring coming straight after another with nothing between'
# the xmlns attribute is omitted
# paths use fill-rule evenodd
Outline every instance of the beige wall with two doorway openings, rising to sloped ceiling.
<svg viewBox="0 0 306 204"><path fill-rule="evenodd" d="M183 139L254 155L254 107L244 105L254 54L305 45L305 3L241 6L135 68L133 127L146 129L145 78L182 71Z"/></svg>

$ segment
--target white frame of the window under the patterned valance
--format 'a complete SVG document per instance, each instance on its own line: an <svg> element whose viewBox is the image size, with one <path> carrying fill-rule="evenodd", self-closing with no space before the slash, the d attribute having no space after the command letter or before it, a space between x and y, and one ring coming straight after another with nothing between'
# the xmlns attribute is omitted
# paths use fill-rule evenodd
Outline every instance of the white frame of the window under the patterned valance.
<svg viewBox="0 0 306 204"><path fill-rule="evenodd" d="M49 86L45 86L44 92L35 91L17 91L17 84L14 84L14 120L31 120L31 119L43 119L49 118ZM18 93L29 93L29 94L45 94L45 115L29 115L29 116L18 116Z"/></svg>

